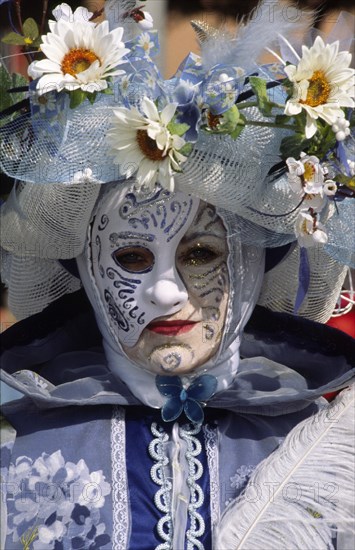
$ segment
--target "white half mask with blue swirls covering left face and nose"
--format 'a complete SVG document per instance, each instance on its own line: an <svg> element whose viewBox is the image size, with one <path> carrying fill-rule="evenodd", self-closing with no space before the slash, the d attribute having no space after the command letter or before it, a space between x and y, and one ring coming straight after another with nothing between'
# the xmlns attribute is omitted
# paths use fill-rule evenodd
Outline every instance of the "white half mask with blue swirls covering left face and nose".
<svg viewBox="0 0 355 550"><path fill-rule="evenodd" d="M99 205L91 228L92 274L120 344L134 346L150 321L186 303L175 253L198 205L183 193L138 195L127 187Z"/></svg>

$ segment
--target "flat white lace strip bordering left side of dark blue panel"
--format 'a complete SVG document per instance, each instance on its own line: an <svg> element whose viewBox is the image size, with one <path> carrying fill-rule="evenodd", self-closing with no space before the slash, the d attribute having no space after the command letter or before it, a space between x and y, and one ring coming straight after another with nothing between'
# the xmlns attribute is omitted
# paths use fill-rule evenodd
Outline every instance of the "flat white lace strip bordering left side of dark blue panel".
<svg viewBox="0 0 355 550"><path fill-rule="evenodd" d="M125 412L115 407L111 419L113 528L112 548L126 550L129 534L128 481L126 469Z"/></svg>

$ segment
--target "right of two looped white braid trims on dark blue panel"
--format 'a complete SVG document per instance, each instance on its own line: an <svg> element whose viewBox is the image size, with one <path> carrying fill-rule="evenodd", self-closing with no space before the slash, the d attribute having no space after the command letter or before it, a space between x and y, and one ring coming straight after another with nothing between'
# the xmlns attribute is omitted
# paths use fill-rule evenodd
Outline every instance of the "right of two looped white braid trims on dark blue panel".
<svg viewBox="0 0 355 550"><path fill-rule="evenodd" d="M190 503L188 506L190 529L186 533L187 550L194 550L194 548L204 550L202 542L197 539L197 537L202 537L206 529L204 519L197 511L197 509L202 506L205 499L201 487L196 483L203 474L203 466L197 458L202 450L201 443L194 437L200 430L201 425L195 425L192 428L187 425L180 428L181 437L187 443L186 460L189 464L187 484L190 489Z"/></svg>

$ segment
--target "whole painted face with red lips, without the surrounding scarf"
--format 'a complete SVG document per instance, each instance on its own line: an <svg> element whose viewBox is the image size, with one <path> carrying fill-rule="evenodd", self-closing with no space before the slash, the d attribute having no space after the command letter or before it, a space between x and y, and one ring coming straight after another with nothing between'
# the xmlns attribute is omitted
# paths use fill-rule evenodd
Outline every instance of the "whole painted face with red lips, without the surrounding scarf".
<svg viewBox="0 0 355 550"><path fill-rule="evenodd" d="M216 353L228 302L227 241L213 207L182 193L112 194L91 228L92 274L110 332L155 373Z"/></svg>

